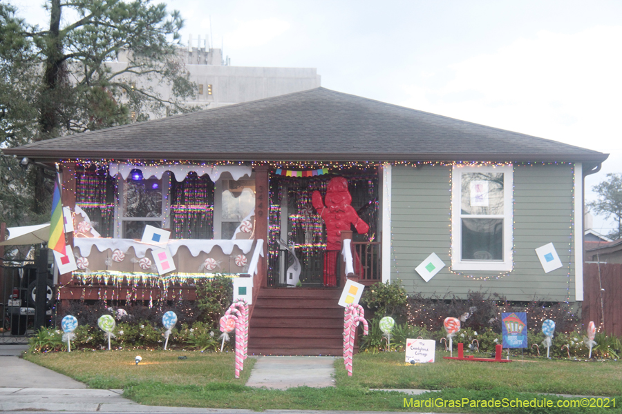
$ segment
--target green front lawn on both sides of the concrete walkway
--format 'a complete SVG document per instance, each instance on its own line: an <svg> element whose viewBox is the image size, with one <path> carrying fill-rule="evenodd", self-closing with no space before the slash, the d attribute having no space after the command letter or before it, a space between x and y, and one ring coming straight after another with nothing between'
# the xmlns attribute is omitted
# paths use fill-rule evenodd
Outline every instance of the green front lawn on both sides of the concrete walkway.
<svg viewBox="0 0 622 414"><path fill-rule="evenodd" d="M241 379L234 377L231 353L185 351L86 351L28 354L26 359L85 382L93 388L123 388L124 395L141 404L211 408L250 408L349 411L435 411L446 413L612 413L619 408L413 408L432 401L552 400L558 397L536 393L603 395L622 405L622 365L619 362L569 362L525 359L526 362L493 364L442 359L434 364L411 366L404 353L359 354L354 375L348 377L337 359L334 388L292 388L287 391L244 386L254 359L245 362ZM178 359L185 356L187 359ZM529 362L527 362L529 361ZM370 388L424 388L441 390L411 397ZM406 398L406 401L404 400ZM565 399L561 399L565 400ZM417 403L420 401L420 403ZM404 406L406 402L407 406ZM596 401L594 405L596 405ZM612 405L612 400L609 402Z"/></svg>

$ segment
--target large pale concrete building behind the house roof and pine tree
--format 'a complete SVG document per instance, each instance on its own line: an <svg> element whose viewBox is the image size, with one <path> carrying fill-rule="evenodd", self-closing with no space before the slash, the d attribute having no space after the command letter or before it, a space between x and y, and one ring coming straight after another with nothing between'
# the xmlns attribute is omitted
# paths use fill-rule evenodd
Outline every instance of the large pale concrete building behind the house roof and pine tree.
<svg viewBox="0 0 622 414"><path fill-rule="evenodd" d="M195 44L197 47L194 47ZM316 68L232 66L229 57L223 56L223 50L208 46L205 39L201 41L199 37L193 41L190 38L189 45L179 50L190 80L197 85L194 100L187 101L189 105L200 106L202 109L218 108L321 86ZM108 64L116 71L122 70L126 62L127 54L121 52L117 61ZM167 86L147 86L152 86L163 97L170 96Z"/></svg>

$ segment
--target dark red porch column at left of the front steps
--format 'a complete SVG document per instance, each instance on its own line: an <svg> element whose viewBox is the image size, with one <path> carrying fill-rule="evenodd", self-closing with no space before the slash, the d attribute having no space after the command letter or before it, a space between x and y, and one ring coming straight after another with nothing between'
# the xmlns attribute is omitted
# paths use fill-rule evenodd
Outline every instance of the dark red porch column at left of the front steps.
<svg viewBox="0 0 622 414"><path fill-rule="evenodd" d="M263 239L263 259L259 259L255 282L267 286L267 230L270 214L269 172L267 166L255 167L255 239Z"/></svg>

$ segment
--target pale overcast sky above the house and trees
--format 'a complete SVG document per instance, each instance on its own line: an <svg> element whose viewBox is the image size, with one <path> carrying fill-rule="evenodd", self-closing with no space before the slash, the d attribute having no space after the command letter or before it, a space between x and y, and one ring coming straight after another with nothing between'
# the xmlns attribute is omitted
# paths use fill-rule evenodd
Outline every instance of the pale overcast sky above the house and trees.
<svg viewBox="0 0 622 414"><path fill-rule="evenodd" d="M42 0L9 2L46 22ZM608 153L586 201L622 172L622 1L164 3L183 43L207 37L232 66L317 68L325 88Z"/></svg>

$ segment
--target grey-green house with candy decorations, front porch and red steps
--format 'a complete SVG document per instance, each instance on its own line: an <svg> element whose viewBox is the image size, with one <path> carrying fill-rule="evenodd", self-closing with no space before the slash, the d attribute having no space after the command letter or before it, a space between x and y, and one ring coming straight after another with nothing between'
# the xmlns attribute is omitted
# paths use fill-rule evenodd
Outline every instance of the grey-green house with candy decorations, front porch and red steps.
<svg viewBox="0 0 622 414"><path fill-rule="evenodd" d="M299 355L341 353L341 254L363 284L583 300L583 182L607 159L326 88L4 152L62 175L88 262L61 275L62 299L187 298L196 279L252 273L249 349ZM357 215L337 253L317 215L334 177ZM171 230L176 271L143 266L147 224ZM303 288L279 288L294 274Z"/></svg>

